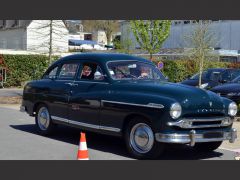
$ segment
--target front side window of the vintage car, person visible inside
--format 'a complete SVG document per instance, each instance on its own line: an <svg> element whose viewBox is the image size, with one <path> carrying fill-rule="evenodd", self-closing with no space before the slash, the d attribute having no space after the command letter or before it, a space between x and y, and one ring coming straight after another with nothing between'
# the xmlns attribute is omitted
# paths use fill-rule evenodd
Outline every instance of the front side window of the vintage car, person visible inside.
<svg viewBox="0 0 240 180"><path fill-rule="evenodd" d="M103 71L99 65L95 63L83 63L82 70L79 74L80 80L104 80Z"/></svg>

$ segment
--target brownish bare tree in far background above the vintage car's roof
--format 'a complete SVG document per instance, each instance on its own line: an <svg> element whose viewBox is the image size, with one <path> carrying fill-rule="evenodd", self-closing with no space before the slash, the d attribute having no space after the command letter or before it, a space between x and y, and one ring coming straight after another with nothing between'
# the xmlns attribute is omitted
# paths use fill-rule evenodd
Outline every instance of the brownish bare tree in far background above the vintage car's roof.
<svg viewBox="0 0 240 180"><path fill-rule="evenodd" d="M82 24L84 31L104 31L107 45L110 45L113 33L119 31L119 21L117 20L83 20Z"/></svg>

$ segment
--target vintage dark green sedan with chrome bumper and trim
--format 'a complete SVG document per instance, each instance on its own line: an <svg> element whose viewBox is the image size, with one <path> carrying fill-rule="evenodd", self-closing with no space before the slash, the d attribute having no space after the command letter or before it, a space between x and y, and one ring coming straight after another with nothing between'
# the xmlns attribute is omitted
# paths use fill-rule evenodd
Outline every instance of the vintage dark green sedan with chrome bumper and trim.
<svg viewBox="0 0 240 180"><path fill-rule="evenodd" d="M234 142L236 104L217 94L167 82L149 60L124 54L77 54L53 63L26 84L22 111L47 135L56 124L122 136L138 159L155 158L166 143L202 151Z"/></svg>

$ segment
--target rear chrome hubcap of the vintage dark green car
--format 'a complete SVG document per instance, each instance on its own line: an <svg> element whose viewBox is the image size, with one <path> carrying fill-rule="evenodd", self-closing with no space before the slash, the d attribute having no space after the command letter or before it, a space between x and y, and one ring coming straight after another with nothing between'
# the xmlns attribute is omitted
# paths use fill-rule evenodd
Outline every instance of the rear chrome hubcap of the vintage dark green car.
<svg viewBox="0 0 240 180"><path fill-rule="evenodd" d="M41 107L38 112L38 126L41 130L47 130L50 123L50 116L46 107Z"/></svg>

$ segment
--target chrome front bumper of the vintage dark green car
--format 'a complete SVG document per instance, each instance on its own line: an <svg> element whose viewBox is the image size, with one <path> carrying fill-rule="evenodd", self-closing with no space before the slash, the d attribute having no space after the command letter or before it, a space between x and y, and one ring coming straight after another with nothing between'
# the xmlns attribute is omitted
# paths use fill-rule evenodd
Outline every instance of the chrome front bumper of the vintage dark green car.
<svg viewBox="0 0 240 180"><path fill-rule="evenodd" d="M237 130L232 128L230 131L214 131L214 133L222 133L222 137L204 137L205 133L211 133L211 131L206 131L202 133L197 133L195 130L191 130L188 134L162 134L156 133L155 138L158 142L164 143L178 143L178 144L190 144L194 146L195 143L199 142L214 142L214 141L224 141L229 140L230 143L234 143L237 138Z"/></svg>

